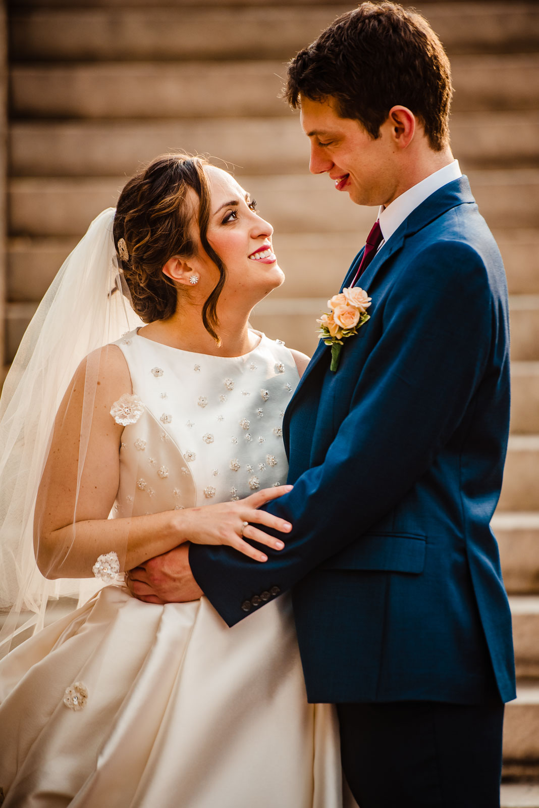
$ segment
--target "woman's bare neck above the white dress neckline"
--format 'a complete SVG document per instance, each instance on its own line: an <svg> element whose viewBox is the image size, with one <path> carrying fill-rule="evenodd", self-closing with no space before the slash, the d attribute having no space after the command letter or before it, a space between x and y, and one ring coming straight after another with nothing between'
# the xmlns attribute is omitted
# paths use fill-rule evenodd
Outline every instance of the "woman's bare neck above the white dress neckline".
<svg viewBox="0 0 539 808"><path fill-rule="evenodd" d="M255 347L257 335L249 332L249 312L219 311L216 332L221 340L218 347L215 339L203 326L199 309L177 309L167 320L157 320L144 326L140 333L155 342L164 343L182 351L211 354L211 356L242 356Z"/></svg>

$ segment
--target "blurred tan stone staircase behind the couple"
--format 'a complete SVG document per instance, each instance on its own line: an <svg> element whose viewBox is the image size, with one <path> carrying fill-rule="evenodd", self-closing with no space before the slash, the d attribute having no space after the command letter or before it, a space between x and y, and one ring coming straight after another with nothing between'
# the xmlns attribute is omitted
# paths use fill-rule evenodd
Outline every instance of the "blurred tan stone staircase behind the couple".
<svg viewBox="0 0 539 808"><path fill-rule="evenodd" d="M503 252L512 436L495 515L514 619L503 806L539 808L539 6L419 3L453 65L453 152ZM228 161L275 227L284 288L253 324L311 353L375 211L308 174L286 61L350 5L312 0L15 0L10 7L7 355L91 218L169 149Z"/></svg>

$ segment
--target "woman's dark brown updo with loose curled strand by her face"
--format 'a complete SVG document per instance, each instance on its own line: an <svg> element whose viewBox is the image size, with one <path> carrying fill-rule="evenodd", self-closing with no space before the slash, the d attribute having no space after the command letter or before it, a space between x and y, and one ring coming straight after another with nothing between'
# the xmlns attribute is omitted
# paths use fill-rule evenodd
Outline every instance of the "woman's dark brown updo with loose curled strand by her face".
<svg viewBox="0 0 539 808"><path fill-rule="evenodd" d="M198 196L198 231L207 255L219 269L219 281L203 305L203 324L219 343L216 307L226 279L226 267L207 241L210 187L208 161L187 154L164 154L137 172L123 188L116 205L114 241L131 292L132 305L144 322L173 315L178 287L165 276L165 263L178 255L197 255L197 221L189 191ZM120 243L121 239L125 244ZM186 292L188 293L188 292Z"/></svg>

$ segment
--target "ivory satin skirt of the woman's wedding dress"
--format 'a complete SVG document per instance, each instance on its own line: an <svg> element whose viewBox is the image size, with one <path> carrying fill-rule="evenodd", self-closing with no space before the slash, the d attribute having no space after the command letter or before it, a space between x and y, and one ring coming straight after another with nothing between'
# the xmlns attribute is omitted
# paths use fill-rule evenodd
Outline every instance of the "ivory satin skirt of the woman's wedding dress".
<svg viewBox="0 0 539 808"><path fill-rule="evenodd" d="M206 598L106 587L0 663L0 787L2 808L342 808L290 598L229 629Z"/></svg>

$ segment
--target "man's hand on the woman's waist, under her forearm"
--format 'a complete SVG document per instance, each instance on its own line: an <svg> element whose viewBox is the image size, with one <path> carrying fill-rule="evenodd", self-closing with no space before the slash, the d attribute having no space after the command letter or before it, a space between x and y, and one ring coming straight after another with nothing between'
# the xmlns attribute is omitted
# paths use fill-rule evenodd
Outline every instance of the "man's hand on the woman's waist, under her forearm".
<svg viewBox="0 0 539 808"><path fill-rule="evenodd" d="M133 597L147 604L185 603L203 595L191 572L188 544L148 558L125 574L125 583Z"/></svg>

